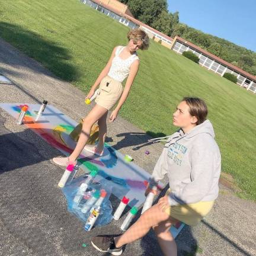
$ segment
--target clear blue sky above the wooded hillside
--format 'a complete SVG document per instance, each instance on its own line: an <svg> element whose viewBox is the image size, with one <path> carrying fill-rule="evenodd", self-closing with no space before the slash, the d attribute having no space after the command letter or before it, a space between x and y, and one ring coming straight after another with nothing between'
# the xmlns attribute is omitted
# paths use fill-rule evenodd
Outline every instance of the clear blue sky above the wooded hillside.
<svg viewBox="0 0 256 256"><path fill-rule="evenodd" d="M256 0L167 0L180 22L256 52Z"/></svg>

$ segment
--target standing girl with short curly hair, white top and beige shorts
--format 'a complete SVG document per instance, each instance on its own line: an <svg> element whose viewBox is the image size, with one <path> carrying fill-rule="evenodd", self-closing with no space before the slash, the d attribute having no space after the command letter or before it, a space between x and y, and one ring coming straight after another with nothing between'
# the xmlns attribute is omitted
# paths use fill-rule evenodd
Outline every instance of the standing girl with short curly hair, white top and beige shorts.
<svg viewBox="0 0 256 256"><path fill-rule="evenodd" d="M95 89L100 85L100 92L95 99L96 105L84 119L82 132L74 151L69 157L53 158L53 162L57 165L66 166L68 164L76 164L76 159L79 157L82 150L84 148L87 149L85 145L89 139L91 127L96 121L98 121L99 126L99 139L93 153L99 156L103 155L105 136L107 133L106 120L108 110L119 100L119 103L110 115L110 121L114 121L121 106L128 97L130 88L132 87L139 69L137 50L146 50L149 47L148 35L139 28L129 31L127 38L129 43L126 46L117 46L114 48L107 65L103 71L101 71L86 97L86 99L91 98L92 95L94 95ZM121 83L126 78L126 84L123 88Z"/></svg>

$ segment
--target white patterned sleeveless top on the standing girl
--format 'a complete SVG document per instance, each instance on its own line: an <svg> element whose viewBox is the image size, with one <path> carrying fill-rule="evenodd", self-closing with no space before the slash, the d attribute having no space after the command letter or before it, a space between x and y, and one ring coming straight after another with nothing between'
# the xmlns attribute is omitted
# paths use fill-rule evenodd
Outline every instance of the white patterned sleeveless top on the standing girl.
<svg viewBox="0 0 256 256"><path fill-rule="evenodd" d="M127 57L126 59L121 59L119 55L124 47L125 46L117 47L115 56L112 60L110 71L108 72L108 76L119 82L123 82L124 79L127 78L130 72L130 65L132 65L134 60L139 59L137 53L134 53L132 56Z"/></svg>

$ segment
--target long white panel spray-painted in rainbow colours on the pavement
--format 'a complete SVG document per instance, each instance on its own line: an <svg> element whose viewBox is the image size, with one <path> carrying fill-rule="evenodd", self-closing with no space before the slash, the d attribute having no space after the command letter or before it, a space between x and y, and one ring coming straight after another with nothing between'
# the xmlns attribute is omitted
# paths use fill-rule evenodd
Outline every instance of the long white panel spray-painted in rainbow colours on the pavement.
<svg viewBox="0 0 256 256"><path fill-rule="evenodd" d="M0 107L17 119L24 105L28 105L24 125L64 155L69 155L76 145L69 134L78 123L52 105L47 105L38 121L35 119L41 106L39 104L2 103ZM120 200L123 196L128 197L130 207L140 207L145 201L145 181L149 180L150 175L134 162L126 162L124 156L107 143L105 143L103 156L95 156L84 150L78 161L81 163L80 168L85 172L97 170L98 175L95 180L112 187L112 193ZM181 228L181 226L178 229L172 227L171 232L176 236Z"/></svg>

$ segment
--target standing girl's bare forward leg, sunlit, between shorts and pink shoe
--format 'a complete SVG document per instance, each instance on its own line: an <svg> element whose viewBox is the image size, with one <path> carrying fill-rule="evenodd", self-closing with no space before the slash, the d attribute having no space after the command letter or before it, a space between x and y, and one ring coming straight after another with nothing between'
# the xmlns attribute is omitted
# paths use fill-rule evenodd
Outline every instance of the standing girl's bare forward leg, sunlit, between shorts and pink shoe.
<svg viewBox="0 0 256 256"><path fill-rule="evenodd" d="M95 121L103 117L107 113L107 111L108 111L107 108L101 107L100 105L96 104L94 108L92 108L92 110L89 112L89 114L85 117L83 126L82 126L81 135L79 136L79 139L74 151L69 156L69 161L76 161L76 159L84 149L84 146L86 145L87 140L89 139L92 124L94 124Z"/></svg>

